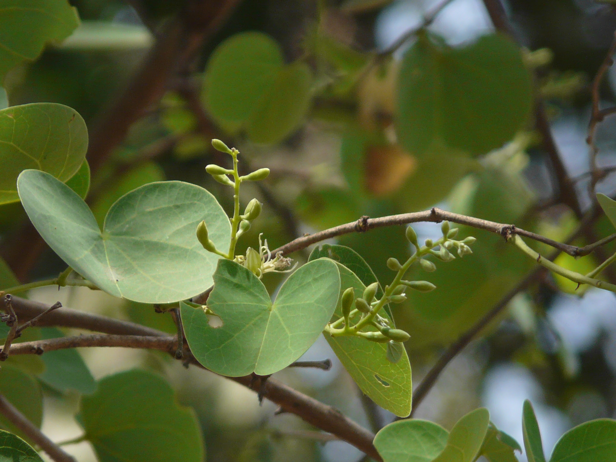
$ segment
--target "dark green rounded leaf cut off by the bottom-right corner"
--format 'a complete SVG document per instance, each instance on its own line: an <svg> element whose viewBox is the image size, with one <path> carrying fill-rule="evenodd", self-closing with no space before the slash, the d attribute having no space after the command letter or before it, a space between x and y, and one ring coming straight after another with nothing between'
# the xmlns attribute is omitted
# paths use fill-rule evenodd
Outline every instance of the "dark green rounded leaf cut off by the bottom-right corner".
<svg viewBox="0 0 616 462"><path fill-rule="evenodd" d="M616 420L596 419L570 429L558 440L549 462L615 462Z"/></svg>

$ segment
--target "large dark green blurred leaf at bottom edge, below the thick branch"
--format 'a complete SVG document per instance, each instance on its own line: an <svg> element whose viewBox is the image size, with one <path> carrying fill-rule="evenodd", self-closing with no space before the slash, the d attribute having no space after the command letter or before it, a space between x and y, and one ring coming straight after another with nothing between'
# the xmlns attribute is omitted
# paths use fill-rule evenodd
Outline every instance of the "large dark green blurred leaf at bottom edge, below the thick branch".
<svg viewBox="0 0 616 462"><path fill-rule="evenodd" d="M201 429L195 413L177 404L157 375L131 370L99 381L81 399L86 438L100 462L202 462Z"/></svg>

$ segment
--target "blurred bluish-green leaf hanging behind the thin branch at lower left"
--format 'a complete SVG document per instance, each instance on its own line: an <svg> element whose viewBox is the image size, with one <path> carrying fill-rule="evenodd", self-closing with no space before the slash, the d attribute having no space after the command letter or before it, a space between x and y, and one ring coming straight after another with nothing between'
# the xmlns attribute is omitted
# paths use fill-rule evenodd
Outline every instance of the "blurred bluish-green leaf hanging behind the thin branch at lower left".
<svg viewBox="0 0 616 462"><path fill-rule="evenodd" d="M55 327L41 328L41 334L43 339L64 336ZM76 349L49 351L41 358L46 369L39 375L39 379L52 388L61 392L76 390L83 394L90 394L96 389L94 378Z"/></svg>

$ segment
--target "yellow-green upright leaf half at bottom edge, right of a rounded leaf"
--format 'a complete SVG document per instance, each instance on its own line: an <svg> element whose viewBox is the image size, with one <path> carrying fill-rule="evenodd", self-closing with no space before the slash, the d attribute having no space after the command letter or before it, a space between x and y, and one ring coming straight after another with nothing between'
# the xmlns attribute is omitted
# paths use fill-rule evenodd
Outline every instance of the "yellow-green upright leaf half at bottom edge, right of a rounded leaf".
<svg viewBox="0 0 616 462"><path fill-rule="evenodd" d="M490 423L486 408L469 412L453 426L447 445L433 462L472 462L479 454Z"/></svg>

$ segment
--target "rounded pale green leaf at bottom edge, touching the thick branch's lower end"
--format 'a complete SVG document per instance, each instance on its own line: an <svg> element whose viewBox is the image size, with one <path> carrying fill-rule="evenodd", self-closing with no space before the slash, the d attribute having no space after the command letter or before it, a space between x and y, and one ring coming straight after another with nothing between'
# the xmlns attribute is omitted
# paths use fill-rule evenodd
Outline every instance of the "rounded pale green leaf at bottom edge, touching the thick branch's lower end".
<svg viewBox="0 0 616 462"><path fill-rule="evenodd" d="M444 450L448 435L427 420L399 420L381 429L374 445L384 462L432 462Z"/></svg>

